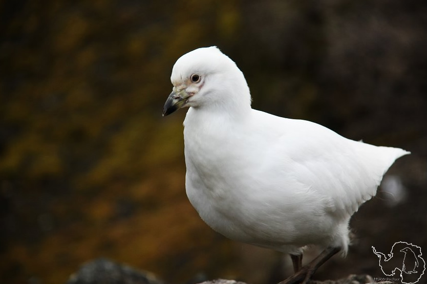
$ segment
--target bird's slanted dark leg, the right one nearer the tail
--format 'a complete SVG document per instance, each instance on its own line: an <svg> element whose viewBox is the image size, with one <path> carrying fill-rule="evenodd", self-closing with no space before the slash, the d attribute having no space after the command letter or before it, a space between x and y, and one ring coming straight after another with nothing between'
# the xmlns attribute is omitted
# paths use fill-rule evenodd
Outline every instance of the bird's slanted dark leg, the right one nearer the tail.
<svg viewBox="0 0 427 284"><path fill-rule="evenodd" d="M319 267L321 267L326 262L326 260L331 258L338 251L340 251L340 248L330 247L325 249L321 254L319 254L316 258L314 258L309 264L301 268L300 271L298 271L291 277L277 284L296 284L296 283L306 284L310 280L314 272L316 272L316 270Z"/></svg>

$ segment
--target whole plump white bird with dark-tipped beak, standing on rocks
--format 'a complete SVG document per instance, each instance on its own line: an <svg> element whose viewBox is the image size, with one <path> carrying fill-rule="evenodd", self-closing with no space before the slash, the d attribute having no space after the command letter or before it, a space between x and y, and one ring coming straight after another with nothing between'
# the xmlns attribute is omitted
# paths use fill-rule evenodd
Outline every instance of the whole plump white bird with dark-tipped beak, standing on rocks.
<svg viewBox="0 0 427 284"><path fill-rule="evenodd" d="M189 201L224 236L290 254L295 274L284 283L307 282L332 255L347 253L350 217L394 161L410 154L253 110L243 73L217 47L181 56L170 80L163 115L189 107ZM325 250L302 267L307 245Z"/></svg>

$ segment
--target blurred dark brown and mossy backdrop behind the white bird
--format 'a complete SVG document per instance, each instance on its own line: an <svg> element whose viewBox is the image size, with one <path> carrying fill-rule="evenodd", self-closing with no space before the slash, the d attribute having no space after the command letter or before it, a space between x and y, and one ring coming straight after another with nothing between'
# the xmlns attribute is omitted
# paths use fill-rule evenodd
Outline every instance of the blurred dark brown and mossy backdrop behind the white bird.
<svg viewBox="0 0 427 284"><path fill-rule="evenodd" d="M176 59L212 45L253 108L412 151L315 277L384 276L371 246L427 255L425 27L424 0L0 2L0 282L65 283L97 257L170 283L289 275L287 256L228 241L187 200L185 110L162 107Z"/></svg>

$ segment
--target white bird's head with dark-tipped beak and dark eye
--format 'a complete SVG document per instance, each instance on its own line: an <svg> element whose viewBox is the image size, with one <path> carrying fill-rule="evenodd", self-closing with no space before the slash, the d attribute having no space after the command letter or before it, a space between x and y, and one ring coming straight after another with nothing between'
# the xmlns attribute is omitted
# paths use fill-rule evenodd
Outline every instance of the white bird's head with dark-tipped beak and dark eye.
<svg viewBox="0 0 427 284"><path fill-rule="evenodd" d="M163 116L186 106L226 110L238 104L250 108L243 73L217 47L199 48L181 56L170 81L174 87L164 104Z"/></svg>

